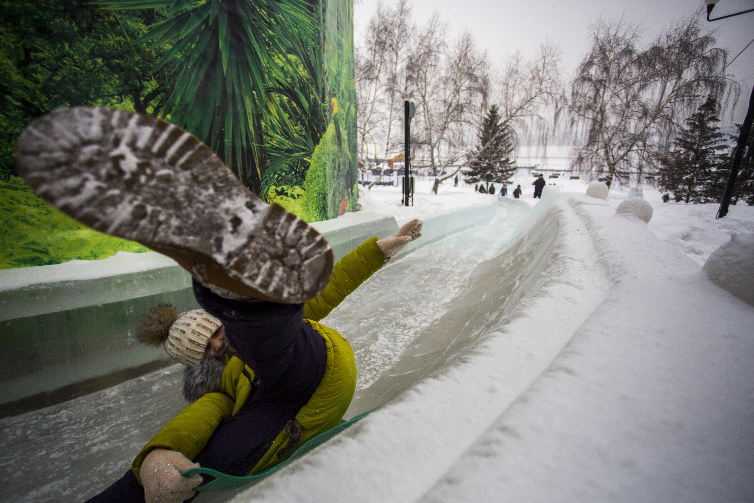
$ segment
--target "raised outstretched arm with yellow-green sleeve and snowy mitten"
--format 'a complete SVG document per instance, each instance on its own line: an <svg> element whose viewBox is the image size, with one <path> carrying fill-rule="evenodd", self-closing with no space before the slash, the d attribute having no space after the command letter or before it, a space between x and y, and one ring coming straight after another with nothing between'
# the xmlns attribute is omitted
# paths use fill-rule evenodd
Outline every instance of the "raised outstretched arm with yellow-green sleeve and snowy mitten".
<svg viewBox="0 0 754 503"><path fill-rule="evenodd" d="M421 237L423 223L419 219L413 219L394 235L385 239L371 238L340 259L323 292L304 305L304 318L320 321L326 317L348 294L378 271L385 264L385 259L394 256L410 241Z"/></svg>

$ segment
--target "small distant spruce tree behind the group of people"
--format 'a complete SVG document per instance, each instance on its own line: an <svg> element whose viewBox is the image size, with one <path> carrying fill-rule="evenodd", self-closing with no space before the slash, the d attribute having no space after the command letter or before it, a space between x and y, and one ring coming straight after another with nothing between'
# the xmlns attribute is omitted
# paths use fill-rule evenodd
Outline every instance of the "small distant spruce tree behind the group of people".
<svg viewBox="0 0 754 503"><path fill-rule="evenodd" d="M470 170L466 173L467 183L482 183L489 192L489 184L504 182L516 171L510 154L513 152L513 130L500 122L498 107L489 107L482 121L479 145L469 156Z"/></svg>

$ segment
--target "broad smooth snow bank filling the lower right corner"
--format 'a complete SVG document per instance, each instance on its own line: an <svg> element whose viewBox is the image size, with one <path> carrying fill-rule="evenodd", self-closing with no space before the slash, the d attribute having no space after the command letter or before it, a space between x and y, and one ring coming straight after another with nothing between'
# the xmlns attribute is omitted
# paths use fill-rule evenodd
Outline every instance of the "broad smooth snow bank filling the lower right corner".
<svg viewBox="0 0 754 503"><path fill-rule="evenodd" d="M421 501L752 501L754 308L593 199L611 289Z"/></svg>

